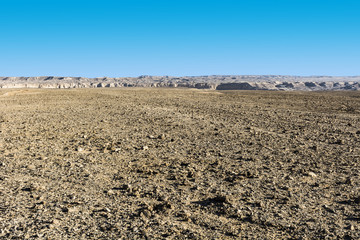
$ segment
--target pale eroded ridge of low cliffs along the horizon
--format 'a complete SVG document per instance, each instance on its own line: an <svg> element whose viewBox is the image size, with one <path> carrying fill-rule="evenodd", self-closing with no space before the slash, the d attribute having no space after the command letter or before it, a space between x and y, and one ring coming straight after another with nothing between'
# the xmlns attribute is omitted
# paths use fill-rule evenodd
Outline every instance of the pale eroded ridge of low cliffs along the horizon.
<svg viewBox="0 0 360 240"><path fill-rule="evenodd" d="M209 90L359 90L360 76L209 75L139 77L0 77L0 88L170 87Z"/></svg>

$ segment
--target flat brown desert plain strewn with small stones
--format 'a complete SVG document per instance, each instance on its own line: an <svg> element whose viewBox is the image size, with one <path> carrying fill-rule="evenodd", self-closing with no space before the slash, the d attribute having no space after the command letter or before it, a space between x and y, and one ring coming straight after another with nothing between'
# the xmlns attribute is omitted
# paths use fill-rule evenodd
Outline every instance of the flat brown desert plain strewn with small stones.
<svg viewBox="0 0 360 240"><path fill-rule="evenodd" d="M0 90L0 239L359 239L360 92Z"/></svg>

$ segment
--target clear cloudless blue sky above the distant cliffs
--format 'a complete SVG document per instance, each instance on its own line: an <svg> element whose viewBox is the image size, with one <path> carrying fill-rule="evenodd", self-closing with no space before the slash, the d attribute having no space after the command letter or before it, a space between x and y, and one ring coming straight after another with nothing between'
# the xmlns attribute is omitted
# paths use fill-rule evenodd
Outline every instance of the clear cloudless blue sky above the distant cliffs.
<svg viewBox="0 0 360 240"><path fill-rule="evenodd" d="M359 0L0 0L0 76L360 75Z"/></svg>

